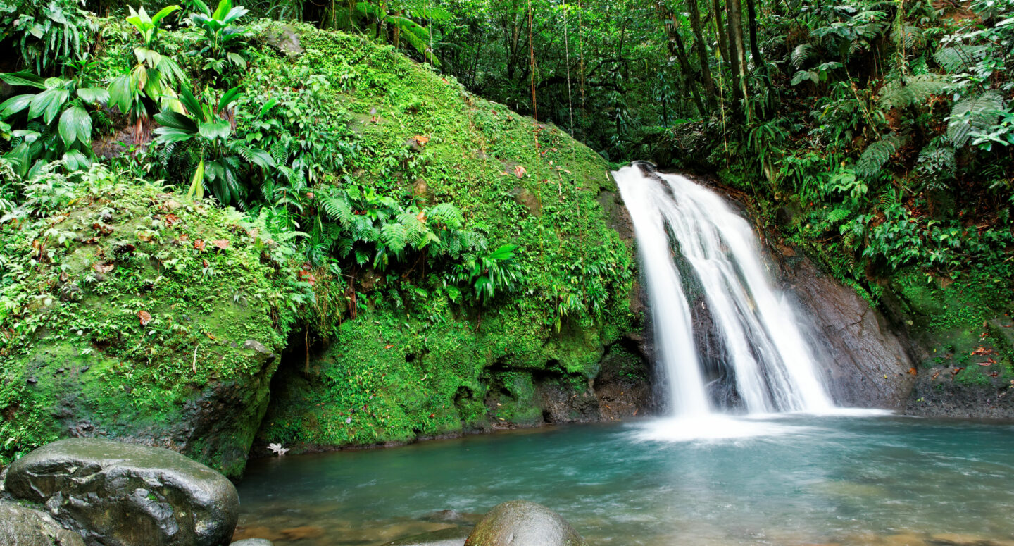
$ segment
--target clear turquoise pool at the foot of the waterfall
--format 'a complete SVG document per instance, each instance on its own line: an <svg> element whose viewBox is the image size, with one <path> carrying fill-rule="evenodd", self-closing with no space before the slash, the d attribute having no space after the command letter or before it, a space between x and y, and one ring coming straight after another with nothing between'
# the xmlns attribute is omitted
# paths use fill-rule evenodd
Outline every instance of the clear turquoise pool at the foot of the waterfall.
<svg viewBox="0 0 1014 546"><path fill-rule="evenodd" d="M729 421L700 426L709 439L644 421L254 461L237 537L383 544L525 498L592 544L1014 545L1014 425Z"/></svg>

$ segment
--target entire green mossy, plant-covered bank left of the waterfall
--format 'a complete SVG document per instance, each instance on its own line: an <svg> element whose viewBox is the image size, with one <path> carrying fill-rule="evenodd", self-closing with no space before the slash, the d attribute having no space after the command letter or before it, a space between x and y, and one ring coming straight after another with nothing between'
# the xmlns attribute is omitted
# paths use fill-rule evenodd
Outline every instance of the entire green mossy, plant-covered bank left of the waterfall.
<svg viewBox="0 0 1014 546"><path fill-rule="evenodd" d="M254 20L227 0L108 18L23 6L4 40L26 46L0 76L13 87L0 105L2 457L83 425L236 473L278 365L248 363L246 340L293 353L284 362L330 397L314 409L327 427L300 415L293 429L284 412L307 409L283 408L266 440L341 445L475 423L491 366L585 388L629 330L633 255L599 204L614 186L562 131L367 38ZM82 18L80 37L51 24L56 8ZM335 368L310 369L329 344ZM400 399L444 350L459 363ZM81 372L90 358L107 369ZM343 387L364 365L371 383ZM56 387L68 370L73 392ZM239 450L174 443L176 409L230 382L259 389ZM346 423L385 390L403 409ZM70 402L93 418L54 422Z"/></svg>

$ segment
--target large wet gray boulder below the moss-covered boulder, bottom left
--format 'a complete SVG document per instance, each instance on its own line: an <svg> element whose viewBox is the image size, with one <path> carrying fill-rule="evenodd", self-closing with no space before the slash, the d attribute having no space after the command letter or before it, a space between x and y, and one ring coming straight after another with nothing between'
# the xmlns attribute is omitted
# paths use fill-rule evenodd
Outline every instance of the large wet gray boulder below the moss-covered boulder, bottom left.
<svg viewBox="0 0 1014 546"><path fill-rule="evenodd" d="M238 518L225 476L169 450L107 439L44 446L10 466L5 486L46 504L89 546L219 546Z"/></svg>

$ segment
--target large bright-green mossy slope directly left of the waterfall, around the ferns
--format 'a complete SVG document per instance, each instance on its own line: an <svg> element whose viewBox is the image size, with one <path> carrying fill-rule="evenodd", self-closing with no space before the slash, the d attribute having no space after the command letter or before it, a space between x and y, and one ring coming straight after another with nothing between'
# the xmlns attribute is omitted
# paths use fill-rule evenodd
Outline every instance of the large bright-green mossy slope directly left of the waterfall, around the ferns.
<svg viewBox="0 0 1014 546"><path fill-rule="evenodd" d="M596 201L615 191L605 161L390 48L298 31L304 55L251 65L260 92L323 74L333 84L319 92L350 120L364 156L357 180L403 200L453 203L491 242L519 246L527 279L521 293L477 310L425 277L378 275L367 309L332 332L321 356L293 355L280 371L259 442L299 451L533 424L536 383L586 391L603 348L635 320L632 246Z"/></svg>

